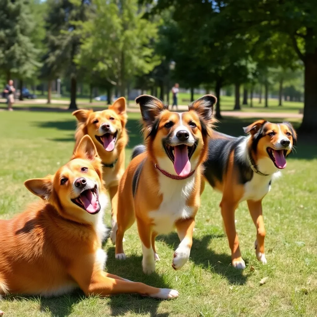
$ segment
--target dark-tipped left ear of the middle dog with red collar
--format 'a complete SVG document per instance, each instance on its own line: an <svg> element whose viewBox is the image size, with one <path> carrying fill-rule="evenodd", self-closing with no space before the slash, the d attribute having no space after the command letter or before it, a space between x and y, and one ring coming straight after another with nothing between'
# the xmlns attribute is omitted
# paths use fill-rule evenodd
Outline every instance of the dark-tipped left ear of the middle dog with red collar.
<svg viewBox="0 0 317 317"><path fill-rule="evenodd" d="M143 124L146 127L151 127L159 113L167 109L161 100L150 95L139 96L135 102L140 106Z"/></svg>

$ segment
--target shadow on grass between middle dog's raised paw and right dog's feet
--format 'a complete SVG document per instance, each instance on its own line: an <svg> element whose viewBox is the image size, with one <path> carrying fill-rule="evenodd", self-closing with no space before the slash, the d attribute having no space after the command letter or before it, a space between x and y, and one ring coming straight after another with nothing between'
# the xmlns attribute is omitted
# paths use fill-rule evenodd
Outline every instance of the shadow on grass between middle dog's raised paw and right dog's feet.
<svg viewBox="0 0 317 317"><path fill-rule="evenodd" d="M190 259L196 265L202 266L203 269L210 270L215 274L225 277L230 284L243 285L246 283L248 276L243 275L242 270L237 270L230 265L230 255L226 253L216 253L208 249L208 244L211 239L221 237L224 237L224 235L206 235L201 239L193 237ZM157 239L165 242L174 248L174 250L179 244L179 238L176 232L167 236L159 236Z"/></svg>

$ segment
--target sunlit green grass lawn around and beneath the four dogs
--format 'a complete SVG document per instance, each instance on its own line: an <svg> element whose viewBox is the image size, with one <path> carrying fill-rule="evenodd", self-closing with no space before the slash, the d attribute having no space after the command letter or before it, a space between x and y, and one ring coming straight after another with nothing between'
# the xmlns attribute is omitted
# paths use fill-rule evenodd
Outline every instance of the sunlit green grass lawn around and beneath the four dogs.
<svg viewBox="0 0 317 317"><path fill-rule="evenodd" d="M141 139L138 120L138 113L129 114L127 162ZM239 135L252 120L227 118L218 129ZM37 199L23 181L54 173L68 161L74 129L70 113L0 112L0 218L9 219ZM109 272L152 286L175 288L180 293L177 299L160 301L138 295L86 298L81 292L49 299L10 295L0 301L0 309L6 317L317 316L317 145L313 142L299 137L297 154L291 155L283 177L264 198L266 266L256 260L256 229L244 202L236 211L236 227L247 266L244 271L232 268L218 207L220 194L206 186L190 261L180 271L171 268L179 243L176 233L157 238L161 261L150 276L142 272L135 225L126 232L126 261L114 258L109 241L105 245ZM105 222L110 223L110 212ZM268 279L260 286L264 277Z"/></svg>

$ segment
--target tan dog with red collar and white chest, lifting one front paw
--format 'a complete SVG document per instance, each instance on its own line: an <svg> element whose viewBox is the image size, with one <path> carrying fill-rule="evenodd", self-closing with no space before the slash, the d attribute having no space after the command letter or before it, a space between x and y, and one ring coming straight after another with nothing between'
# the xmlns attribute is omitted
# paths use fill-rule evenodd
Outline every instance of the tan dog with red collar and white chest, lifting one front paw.
<svg viewBox="0 0 317 317"><path fill-rule="evenodd" d="M205 95L189 105L188 111L177 113L155 97L136 99L146 146L135 148L120 180L118 210L113 217L117 224L111 239L116 244L115 257L125 259L122 239L136 219L146 274L155 271L155 261L159 260L155 237L175 227L180 244L172 267L178 270L189 259L216 101L216 97Z"/></svg>

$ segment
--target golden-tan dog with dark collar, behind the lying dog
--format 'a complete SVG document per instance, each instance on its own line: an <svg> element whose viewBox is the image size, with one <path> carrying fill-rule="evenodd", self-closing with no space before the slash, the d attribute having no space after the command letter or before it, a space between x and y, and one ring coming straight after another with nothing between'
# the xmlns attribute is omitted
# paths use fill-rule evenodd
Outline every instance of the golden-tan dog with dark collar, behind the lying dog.
<svg viewBox="0 0 317 317"><path fill-rule="evenodd" d="M103 180L111 199L111 215L116 209L118 184L125 170L125 147L128 143L126 132L126 99L118 98L107 110L80 109L72 113L78 126L75 133L75 148L84 135L94 141L101 158Z"/></svg>

